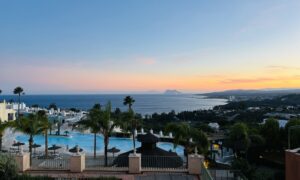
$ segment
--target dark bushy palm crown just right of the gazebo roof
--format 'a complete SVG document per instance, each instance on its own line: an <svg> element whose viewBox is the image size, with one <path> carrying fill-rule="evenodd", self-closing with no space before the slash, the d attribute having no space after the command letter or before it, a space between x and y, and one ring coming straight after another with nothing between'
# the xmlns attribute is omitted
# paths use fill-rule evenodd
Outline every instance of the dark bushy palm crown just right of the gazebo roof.
<svg viewBox="0 0 300 180"><path fill-rule="evenodd" d="M170 123L166 126L167 132L174 133L174 147L183 145L184 154L187 156L197 148L200 153L204 153L208 148L208 140L206 135L196 128L191 127L187 123Z"/></svg>

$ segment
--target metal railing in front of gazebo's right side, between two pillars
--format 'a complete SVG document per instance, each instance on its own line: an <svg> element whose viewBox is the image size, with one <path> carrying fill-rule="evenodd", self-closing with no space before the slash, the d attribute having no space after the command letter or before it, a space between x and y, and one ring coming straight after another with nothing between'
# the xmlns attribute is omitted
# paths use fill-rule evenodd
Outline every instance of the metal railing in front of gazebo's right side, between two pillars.
<svg viewBox="0 0 300 180"><path fill-rule="evenodd" d="M178 156L142 156L142 171L187 171L186 165Z"/></svg>

